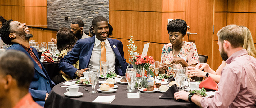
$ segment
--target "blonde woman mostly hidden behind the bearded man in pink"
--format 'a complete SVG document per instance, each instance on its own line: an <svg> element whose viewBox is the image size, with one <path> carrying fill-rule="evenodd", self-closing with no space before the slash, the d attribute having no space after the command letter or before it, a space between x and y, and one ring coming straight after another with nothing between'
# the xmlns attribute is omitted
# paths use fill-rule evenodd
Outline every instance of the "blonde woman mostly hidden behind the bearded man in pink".
<svg viewBox="0 0 256 108"><path fill-rule="evenodd" d="M239 26L239 27L242 29L243 35L245 36L243 48L247 50L250 56L253 56L254 58L256 58L256 49L252 39L251 31L245 26ZM187 74L191 74L191 76L206 78L206 75L208 73L207 77L211 76L216 83L219 83L221 71L225 66L226 66L226 62L222 61L219 68L216 71L214 71L213 69L210 68L210 66L207 63L198 63L195 67L188 67L189 69L192 69L192 70L188 70ZM202 71L203 69L205 72Z"/></svg>

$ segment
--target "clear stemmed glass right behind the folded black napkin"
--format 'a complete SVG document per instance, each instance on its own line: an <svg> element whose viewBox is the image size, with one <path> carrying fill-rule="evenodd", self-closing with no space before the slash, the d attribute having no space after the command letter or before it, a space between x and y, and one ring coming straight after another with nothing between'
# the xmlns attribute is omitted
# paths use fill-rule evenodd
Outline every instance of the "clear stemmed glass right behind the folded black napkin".
<svg viewBox="0 0 256 108"><path fill-rule="evenodd" d="M181 86L182 84L185 82L186 80L186 73L184 69L177 69L175 71L175 77L176 77L176 81L179 84L179 91L181 91Z"/></svg>

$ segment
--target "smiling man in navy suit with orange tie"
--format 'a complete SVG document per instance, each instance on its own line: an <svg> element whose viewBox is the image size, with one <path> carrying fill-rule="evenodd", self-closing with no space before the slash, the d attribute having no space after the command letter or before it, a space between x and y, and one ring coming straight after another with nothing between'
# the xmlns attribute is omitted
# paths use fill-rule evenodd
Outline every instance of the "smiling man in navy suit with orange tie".
<svg viewBox="0 0 256 108"><path fill-rule="evenodd" d="M123 44L119 40L107 38L109 33L107 19L97 16L92 20L92 26L95 36L78 40L72 50L61 59L59 68L73 79L83 77L83 72L87 69L100 70L101 48L105 47L105 60L109 61L109 72L125 75L129 63L124 59ZM81 70L72 66L78 60Z"/></svg>

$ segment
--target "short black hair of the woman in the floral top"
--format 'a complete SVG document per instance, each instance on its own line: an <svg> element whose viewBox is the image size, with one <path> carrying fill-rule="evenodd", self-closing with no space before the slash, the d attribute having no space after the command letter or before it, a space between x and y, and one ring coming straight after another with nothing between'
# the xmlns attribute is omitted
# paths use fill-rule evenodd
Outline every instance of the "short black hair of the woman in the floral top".
<svg viewBox="0 0 256 108"><path fill-rule="evenodd" d="M184 36L187 32L187 23L182 19L174 19L167 24L167 31L180 32Z"/></svg>

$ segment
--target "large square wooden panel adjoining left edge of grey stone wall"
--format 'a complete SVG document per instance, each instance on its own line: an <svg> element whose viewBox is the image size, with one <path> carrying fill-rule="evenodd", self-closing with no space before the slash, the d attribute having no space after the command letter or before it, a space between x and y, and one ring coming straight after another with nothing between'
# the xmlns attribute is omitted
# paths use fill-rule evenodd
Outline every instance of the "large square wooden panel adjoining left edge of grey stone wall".
<svg viewBox="0 0 256 108"><path fill-rule="evenodd" d="M25 22L28 25L46 25L47 7L25 7Z"/></svg>

